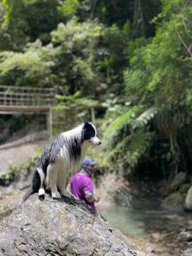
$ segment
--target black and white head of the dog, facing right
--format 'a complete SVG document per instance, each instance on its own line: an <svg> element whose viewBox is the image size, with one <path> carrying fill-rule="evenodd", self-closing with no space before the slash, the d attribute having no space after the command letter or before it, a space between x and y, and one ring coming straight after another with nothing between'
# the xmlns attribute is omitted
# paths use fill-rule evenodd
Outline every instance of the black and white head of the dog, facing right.
<svg viewBox="0 0 192 256"><path fill-rule="evenodd" d="M99 146L101 141L96 137L97 131L95 126L90 122L83 124L83 140L91 146Z"/></svg>

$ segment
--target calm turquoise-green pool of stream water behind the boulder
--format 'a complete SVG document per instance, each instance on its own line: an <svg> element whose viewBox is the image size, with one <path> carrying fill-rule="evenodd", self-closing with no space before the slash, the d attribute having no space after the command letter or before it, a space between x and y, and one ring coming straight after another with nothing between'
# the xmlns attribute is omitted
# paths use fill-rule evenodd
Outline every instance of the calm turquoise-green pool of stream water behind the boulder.
<svg viewBox="0 0 192 256"><path fill-rule="evenodd" d="M177 215L160 208L128 209L116 206L108 209L99 207L97 211L130 239L154 232L176 232L192 224L191 213Z"/></svg>

